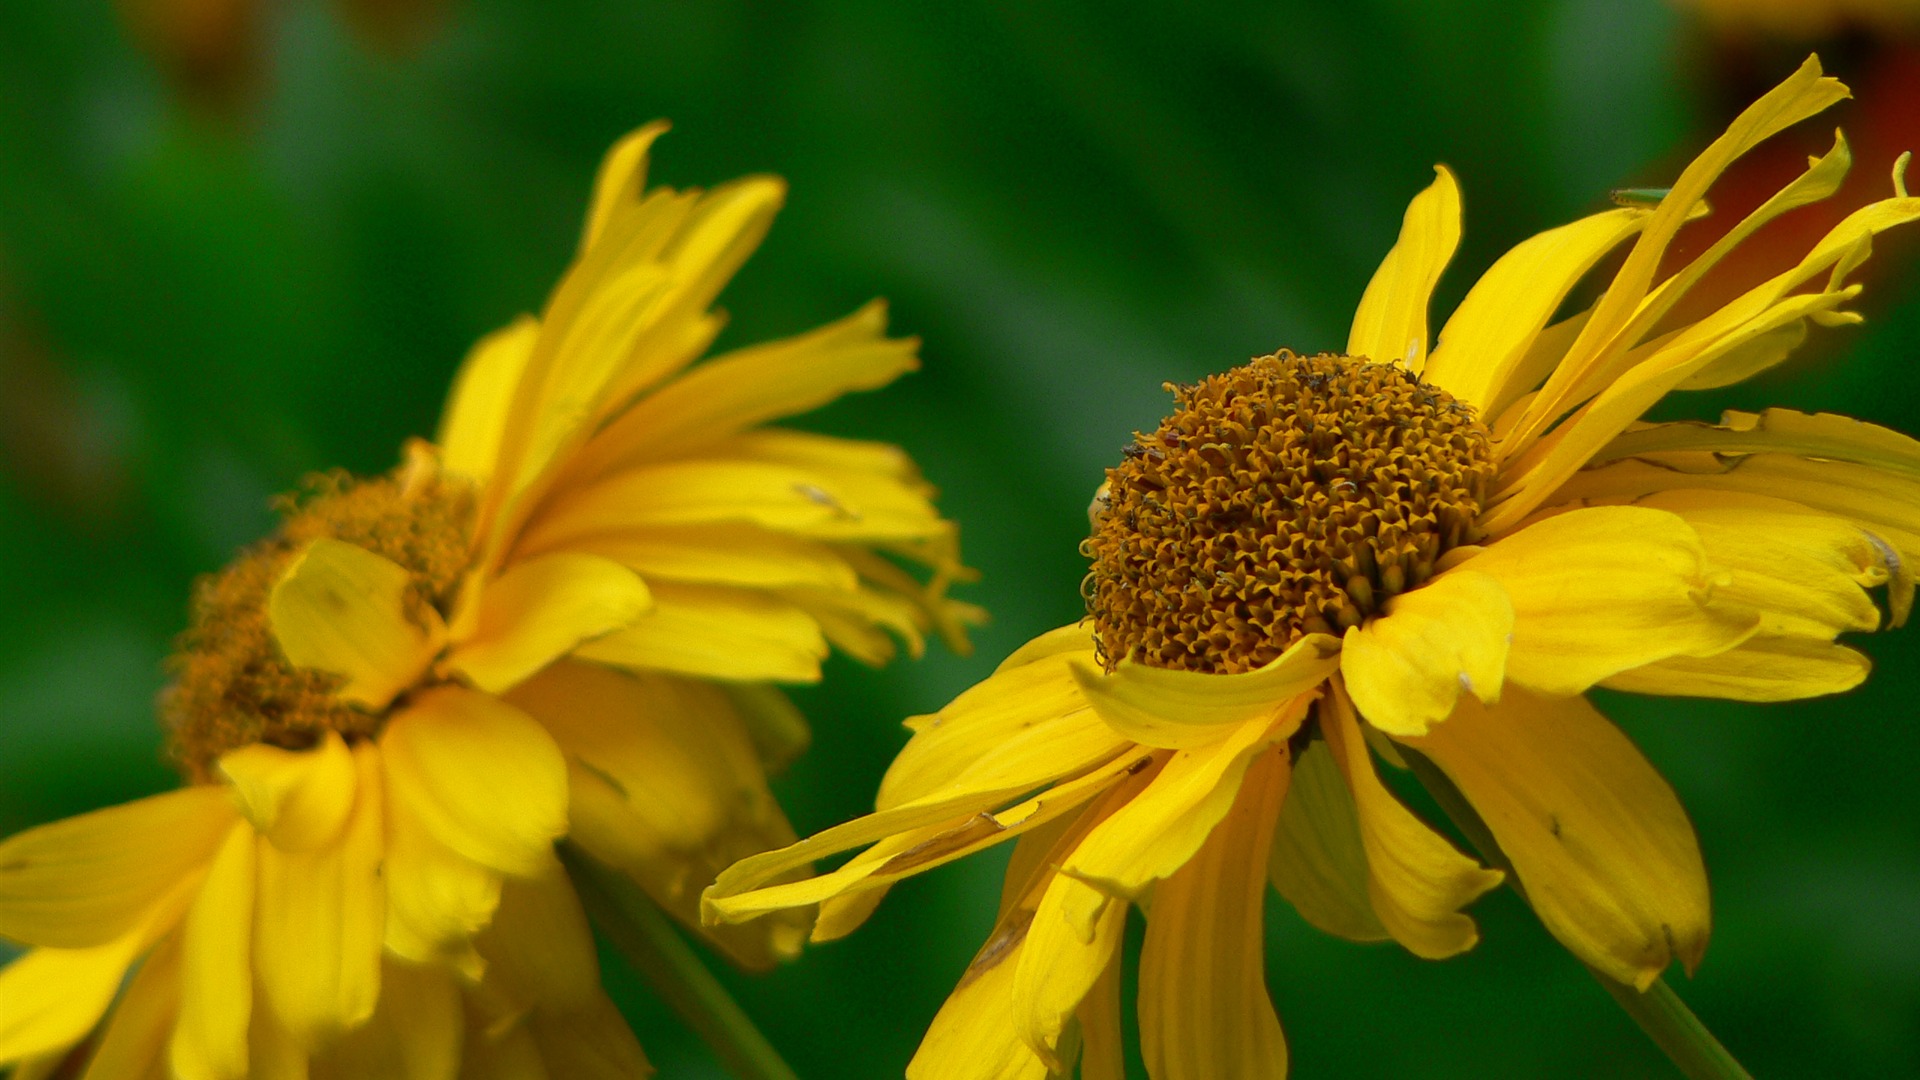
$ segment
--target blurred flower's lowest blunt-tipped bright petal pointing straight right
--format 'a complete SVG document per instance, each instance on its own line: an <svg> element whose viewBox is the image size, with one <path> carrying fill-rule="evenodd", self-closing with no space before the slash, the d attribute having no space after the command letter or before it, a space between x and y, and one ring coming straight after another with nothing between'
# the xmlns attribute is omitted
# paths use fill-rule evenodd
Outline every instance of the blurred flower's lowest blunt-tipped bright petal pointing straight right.
<svg viewBox="0 0 1920 1080"><path fill-rule="evenodd" d="M739 682L818 682L828 642L799 605L745 588L666 584L653 611L576 655Z"/></svg>

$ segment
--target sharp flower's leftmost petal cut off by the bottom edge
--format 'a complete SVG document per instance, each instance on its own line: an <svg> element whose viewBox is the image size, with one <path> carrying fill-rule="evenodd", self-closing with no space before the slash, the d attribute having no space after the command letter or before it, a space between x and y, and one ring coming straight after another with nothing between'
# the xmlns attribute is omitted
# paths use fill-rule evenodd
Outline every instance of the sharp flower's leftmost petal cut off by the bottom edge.
<svg viewBox="0 0 1920 1080"><path fill-rule="evenodd" d="M1023 938L1025 926L1012 944L995 938L973 957L920 1040L906 1080L1048 1080L1046 1063L1014 1026L1014 972Z"/></svg>

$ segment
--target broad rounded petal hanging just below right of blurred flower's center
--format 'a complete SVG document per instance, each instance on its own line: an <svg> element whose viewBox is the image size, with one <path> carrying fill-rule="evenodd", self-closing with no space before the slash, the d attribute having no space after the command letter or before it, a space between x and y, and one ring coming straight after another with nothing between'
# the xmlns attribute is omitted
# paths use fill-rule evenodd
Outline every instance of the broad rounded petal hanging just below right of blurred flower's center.
<svg viewBox="0 0 1920 1080"><path fill-rule="evenodd" d="M566 763L520 709L430 690L380 736L388 794L453 851L503 874L538 872L566 832Z"/></svg>

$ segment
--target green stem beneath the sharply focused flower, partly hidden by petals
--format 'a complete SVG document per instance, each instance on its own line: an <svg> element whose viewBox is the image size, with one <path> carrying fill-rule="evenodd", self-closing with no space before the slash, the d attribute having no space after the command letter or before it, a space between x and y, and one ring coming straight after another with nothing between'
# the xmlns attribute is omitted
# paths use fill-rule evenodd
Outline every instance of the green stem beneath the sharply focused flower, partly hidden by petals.
<svg viewBox="0 0 1920 1080"><path fill-rule="evenodd" d="M1513 872L1513 861L1509 861L1507 853L1500 849L1500 842L1494 840L1494 830L1486 826L1480 813L1467 801L1467 796L1463 796L1459 788L1453 786L1453 780L1425 755L1405 746L1400 748L1400 753L1407 759L1407 765L1413 769L1413 776L1427 788L1427 794L1440 803L1440 809L1453 819L1453 824L1467 836L1467 842L1478 847L1480 857L1484 857L1490 865L1505 871L1507 884L1513 886L1513 892L1532 905L1526 897L1526 886L1523 886L1519 874ZM1634 1022L1640 1024L1642 1032L1647 1032L1653 1045L1661 1047L1661 1051L1667 1053L1667 1059L1672 1061L1674 1067L1688 1076L1688 1080L1753 1080L1753 1076L1741 1068L1740 1061L1734 1061L1734 1055L1720 1045L1720 1040L1707 1030L1707 1024L1701 1024L1699 1017L1686 1007L1686 1001L1682 1001L1680 995L1667 986L1667 980L1655 978L1653 986L1640 992L1613 980L1609 974L1594 969L1592 965L1586 965L1586 970L1607 994L1613 995L1613 999L1620 1005L1620 1011L1632 1017Z"/></svg>

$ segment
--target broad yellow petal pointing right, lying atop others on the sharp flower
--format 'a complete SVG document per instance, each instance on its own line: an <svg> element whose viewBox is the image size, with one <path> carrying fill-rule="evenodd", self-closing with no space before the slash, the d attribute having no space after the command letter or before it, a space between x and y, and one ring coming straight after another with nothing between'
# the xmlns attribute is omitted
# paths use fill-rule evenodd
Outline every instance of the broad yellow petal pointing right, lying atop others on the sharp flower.
<svg viewBox="0 0 1920 1080"><path fill-rule="evenodd" d="M1657 509L1561 513L1463 565L1500 578L1513 601L1507 682L1546 694L1578 694L1674 655L1715 655L1759 625L1751 609L1715 601L1726 575L1686 521Z"/></svg>

